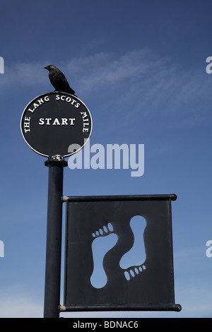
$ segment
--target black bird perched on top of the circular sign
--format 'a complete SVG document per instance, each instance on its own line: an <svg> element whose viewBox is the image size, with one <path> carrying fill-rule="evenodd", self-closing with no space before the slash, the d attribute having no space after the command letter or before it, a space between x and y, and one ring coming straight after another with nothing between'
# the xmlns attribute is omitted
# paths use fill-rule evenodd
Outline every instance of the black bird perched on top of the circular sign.
<svg viewBox="0 0 212 332"><path fill-rule="evenodd" d="M44 67L44 69L49 71L49 81L52 83L56 91L71 93L71 95L75 94L75 91L71 89L64 73L54 66L54 64L49 64L49 66Z"/></svg>

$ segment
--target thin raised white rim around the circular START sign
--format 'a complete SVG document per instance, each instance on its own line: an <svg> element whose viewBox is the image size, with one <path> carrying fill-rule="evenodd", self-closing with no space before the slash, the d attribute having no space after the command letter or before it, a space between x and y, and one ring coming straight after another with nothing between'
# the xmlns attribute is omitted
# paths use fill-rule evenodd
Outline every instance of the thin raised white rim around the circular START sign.
<svg viewBox="0 0 212 332"><path fill-rule="evenodd" d="M25 113L25 111L26 111L26 109L28 108L28 106L31 104L31 102L33 102L34 100L36 100L37 98L39 98L39 97L42 97L42 96L44 96L44 95L53 95L53 94L56 94L56 93L59 93L59 94L62 94L62 93L64 93L64 92L60 92L60 91L52 91L52 92L49 92L49 93L43 93L42 95L38 95L37 97L35 97L35 98L33 98L33 100L31 100L30 102L28 102L28 105L25 107L25 109L23 110L23 113L22 113L22 116L21 116L21 118L20 118L20 132L21 132L21 134L22 134L22 136L23 136L23 139L24 139L24 141L25 141L25 143L27 143L27 145L35 152L35 153L37 153L38 155L42 155L43 157L47 157L47 158L50 158L50 157L52 157L52 155L45 155L44 153L40 153L40 152L38 152L37 150L35 150L35 148L33 148L32 146L30 146L30 144L28 143L28 141L26 141L26 139L25 139L25 136L23 135L23 130L22 130L22 119L23 119L23 116L24 116L24 113ZM64 94L66 94L66 95L71 95L71 93L64 93ZM75 98L77 98L85 107L86 107L86 109L88 109L88 107L84 104L84 102L81 100L81 99L79 99L78 97L76 97L76 95L71 95L71 97L75 97ZM90 134L89 134L89 136L88 136L88 138L87 138L87 141L86 141L86 143L88 143L88 141L89 141L89 139L90 139L90 135L91 135L91 133L92 133L92 129L93 129L93 120L92 120L92 117L91 117L91 114L90 114L90 111L89 111L89 109L88 109L88 113L89 113L89 115L90 115ZM81 146L81 148L79 148L78 150L76 150L76 151L74 151L74 152L72 152L72 153L68 153L67 155L63 155L63 157L64 158L66 158L66 157L70 157L71 155L73 155L73 154L75 154L75 153L77 153L78 151L80 151L85 145L86 145L86 143L84 143L83 144L83 146Z"/></svg>

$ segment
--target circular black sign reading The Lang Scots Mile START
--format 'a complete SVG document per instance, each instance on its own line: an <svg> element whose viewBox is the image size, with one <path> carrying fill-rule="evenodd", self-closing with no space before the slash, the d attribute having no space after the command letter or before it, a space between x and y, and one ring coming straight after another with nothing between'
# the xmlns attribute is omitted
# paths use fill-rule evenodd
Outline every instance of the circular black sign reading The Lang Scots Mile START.
<svg viewBox="0 0 212 332"><path fill-rule="evenodd" d="M39 155L68 157L90 138L92 118L85 104L69 93L45 93L25 107L20 129L25 142ZM76 145L69 148L72 144Z"/></svg>

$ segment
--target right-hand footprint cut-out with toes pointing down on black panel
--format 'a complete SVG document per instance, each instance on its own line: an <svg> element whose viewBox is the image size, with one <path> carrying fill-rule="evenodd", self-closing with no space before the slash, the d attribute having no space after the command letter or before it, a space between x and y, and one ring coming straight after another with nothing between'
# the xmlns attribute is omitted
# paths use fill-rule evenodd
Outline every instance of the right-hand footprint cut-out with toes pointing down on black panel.
<svg viewBox="0 0 212 332"><path fill-rule="evenodd" d="M130 227L134 233L134 245L119 261L119 266L126 270L124 271L126 280L134 278L146 269L146 266L143 265L146 261L146 251L143 236L141 237L146 228L146 219L141 215L135 215L130 220Z"/></svg>

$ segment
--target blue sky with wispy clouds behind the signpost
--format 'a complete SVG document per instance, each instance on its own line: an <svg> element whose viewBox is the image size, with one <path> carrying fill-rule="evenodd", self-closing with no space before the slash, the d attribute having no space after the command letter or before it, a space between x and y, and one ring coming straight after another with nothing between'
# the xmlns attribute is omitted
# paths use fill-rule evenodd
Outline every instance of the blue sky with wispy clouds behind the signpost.
<svg viewBox="0 0 212 332"><path fill-rule="evenodd" d="M1 0L0 6L0 316L42 317L48 170L25 144L20 117L28 102L54 90L43 67L55 64L90 110L90 145L145 146L142 177L66 167L64 195L177 194L175 302L182 304L180 313L66 316L211 317L211 2Z"/></svg>

